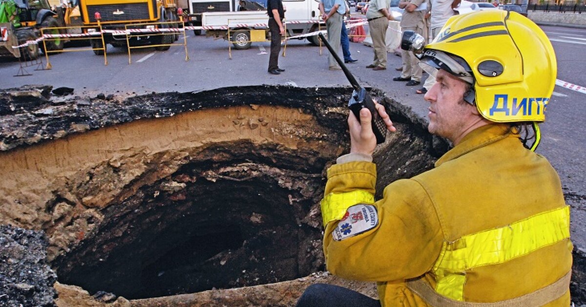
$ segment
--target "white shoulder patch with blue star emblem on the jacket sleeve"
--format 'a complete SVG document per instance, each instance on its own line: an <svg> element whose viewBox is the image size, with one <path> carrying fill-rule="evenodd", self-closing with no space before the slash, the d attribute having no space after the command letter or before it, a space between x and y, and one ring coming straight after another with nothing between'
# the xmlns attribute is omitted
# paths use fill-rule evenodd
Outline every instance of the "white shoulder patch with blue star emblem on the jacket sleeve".
<svg viewBox="0 0 586 307"><path fill-rule="evenodd" d="M333 230L332 236L334 240L341 241L367 232L378 224L379 215L376 207L359 203L347 209L346 214Z"/></svg>

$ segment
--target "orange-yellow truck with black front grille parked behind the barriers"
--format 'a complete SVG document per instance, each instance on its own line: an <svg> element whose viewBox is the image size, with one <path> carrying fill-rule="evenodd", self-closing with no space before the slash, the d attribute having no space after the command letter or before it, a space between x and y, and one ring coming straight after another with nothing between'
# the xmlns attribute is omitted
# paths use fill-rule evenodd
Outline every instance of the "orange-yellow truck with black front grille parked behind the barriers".
<svg viewBox="0 0 586 307"><path fill-rule="evenodd" d="M106 30L125 30L128 26L132 29L157 27L176 27L178 23L166 23L162 25L148 25L153 22L178 22L177 5L175 0L80 0L81 19L84 26L95 26L90 31L99 31L97 16ZM97 14L98 13L98 14ZM131 26L129 26L131 25ZM157 50L168 50L169 46L177 39L178 35L145 35L144 33L132 35L128 43L132 45L162 44L155 47ZM105 33L104 43L114 47L125 47L127 38L117 33ZM91 45L94 53L104 53L101 39L92 39Z"/></svg>

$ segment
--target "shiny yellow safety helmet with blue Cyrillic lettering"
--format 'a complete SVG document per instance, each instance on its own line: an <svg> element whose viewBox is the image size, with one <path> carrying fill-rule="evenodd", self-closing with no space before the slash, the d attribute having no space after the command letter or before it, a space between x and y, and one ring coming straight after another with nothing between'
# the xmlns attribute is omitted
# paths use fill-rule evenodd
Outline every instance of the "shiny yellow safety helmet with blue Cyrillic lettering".
<svg viewBox="0 0 586 307"><path fill-rule="evenodd" d="M472 84L465 100L492 122L543 122L556 85L550 41L516 12L453 16L425 46L420 63L432 75L444 69Z"/></svg>

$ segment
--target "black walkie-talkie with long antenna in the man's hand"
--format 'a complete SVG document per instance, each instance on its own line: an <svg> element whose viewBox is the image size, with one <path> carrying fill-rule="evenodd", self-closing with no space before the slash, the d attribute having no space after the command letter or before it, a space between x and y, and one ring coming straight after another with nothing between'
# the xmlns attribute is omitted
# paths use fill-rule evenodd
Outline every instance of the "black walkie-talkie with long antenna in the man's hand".
<svg viewBox="0 0 586 307"><path fill-rule="evenodd" d="M354 113L354 116L356 116L359 122L360 110L362 110L362 108L369 109L370 115L372 116L372 131L374 132L374 136L376 136L376 143L383 143L387 136L387 126L384 125L383 119L380 117L379 112L376 111L376 108L374 108L374 102L372 101L372 98L370 98L370 95L366 89L358 84L352 73L350 73L346 65L344 65L342 60L340 60L338 54L333 51L332 46L330 46L328 40L326 40L323 34L319 33L318 36L320 39L322 39L323 44L328 47L328 50L336 59L340 67L342 67L342 71L344 74L346 74L346 78L348 81L350 81L350 84L352 84L352 87L354 88L354 91L352 92L352 98L350 98L350 101L348 102L348 108L352 110L352 113Z"/></svg>

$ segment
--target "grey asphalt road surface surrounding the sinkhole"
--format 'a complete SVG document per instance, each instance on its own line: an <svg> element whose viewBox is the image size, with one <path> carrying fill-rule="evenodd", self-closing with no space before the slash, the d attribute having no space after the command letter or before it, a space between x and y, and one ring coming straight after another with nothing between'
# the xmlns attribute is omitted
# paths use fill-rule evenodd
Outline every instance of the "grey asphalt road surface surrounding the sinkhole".
<svg viewBox="0 0 586 307"><path fill-rule="evenodd" d="M560 84L586 86L586 30L544 26L557 54ZM92 51L64 52L50 57L52 70L35 71L32 75L12 77L19 71L18 61L0 60L0 88L21 87L25 84L47 84L71 87L75 95L139 95L149 92L189 92L228 86L292 85L297 87L340 87L340 94L351 89L342 71L328 70L328 51L311 46L306 40L287 44L285 57L279 58L281 75L267 73L270 43L253 43L248 50L232 50L228 43L205 36L186 33L189 61L185 61L183 46L168 51L153 49L132 50L132 64L128 64L126 49L109 47L108 65L104 58ZM179 40L179 42L182 39ZM70 50L70 49L68 49ZM362 43L350 43L352 56L359 61L348 64L363 86L382 89L387 96L411 109L427 120L427 102L415 94L419 87L406 87L405 82L394 82L401 65L400 57L389 54L387 70L373 71L370 64L373 50ZM46 61L43 58L43 63ZM425 75L424 75L425 78ZM575 244L586 247L586 133L582 122L586 114L586 93L556 86L547 107L547 122L541 125L543 140L537 151L551 161L558 173L573 208L572 237ZM340 104L346 102L340 101ZM512 182L515 184L515 182ZM523 187L519 186L519 191Z"/></svg>

